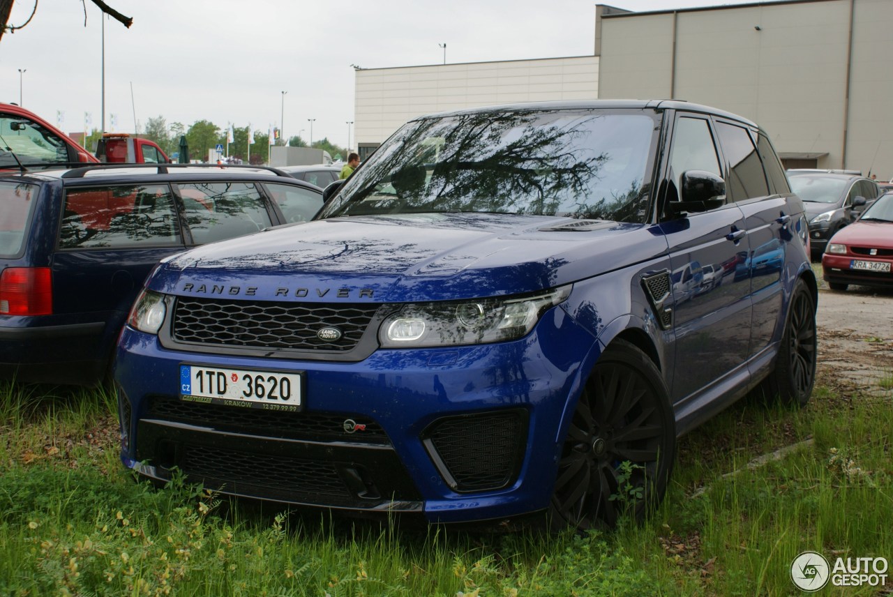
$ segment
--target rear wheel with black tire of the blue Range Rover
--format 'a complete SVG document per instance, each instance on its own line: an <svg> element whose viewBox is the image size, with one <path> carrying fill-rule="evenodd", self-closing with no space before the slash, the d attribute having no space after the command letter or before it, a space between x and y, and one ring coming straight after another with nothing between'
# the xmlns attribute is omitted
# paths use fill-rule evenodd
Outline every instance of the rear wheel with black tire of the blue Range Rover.
<svg viewBox="0 0 893 597"><path fill-rule="evenodd" d="M772 373L772 389L781 402L805 406L815 384L815 300L802 278L790 296L788 318Z"/></svg>

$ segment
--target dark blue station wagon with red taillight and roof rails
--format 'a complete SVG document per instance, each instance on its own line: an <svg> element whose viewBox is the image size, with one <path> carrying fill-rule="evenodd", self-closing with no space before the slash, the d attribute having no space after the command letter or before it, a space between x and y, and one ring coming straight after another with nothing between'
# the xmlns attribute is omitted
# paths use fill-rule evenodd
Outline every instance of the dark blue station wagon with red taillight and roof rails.
<svg viewBox="0 0 893 597"><path fill-rule="evenodd" d="M0 377L93 385L158 261L310 220L320 189L275 170L92 165L0 176Z"/></svg>

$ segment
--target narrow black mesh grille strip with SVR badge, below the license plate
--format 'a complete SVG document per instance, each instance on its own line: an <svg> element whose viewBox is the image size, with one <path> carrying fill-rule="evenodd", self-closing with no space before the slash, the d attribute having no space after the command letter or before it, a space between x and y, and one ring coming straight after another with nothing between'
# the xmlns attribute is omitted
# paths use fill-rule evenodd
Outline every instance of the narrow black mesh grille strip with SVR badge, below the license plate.
<svg viewBox="0 0 893 597"><path fill-rule="evenodd" d="M154 396L146 409L145 418L212 427L246 435L390 445L388 434L375 421L365 417L329 412L243 409L201 402L183 402L170 396ZM353 429L353 433L345 430L345 421L354 421L354 425L348 425Z"/></svg>

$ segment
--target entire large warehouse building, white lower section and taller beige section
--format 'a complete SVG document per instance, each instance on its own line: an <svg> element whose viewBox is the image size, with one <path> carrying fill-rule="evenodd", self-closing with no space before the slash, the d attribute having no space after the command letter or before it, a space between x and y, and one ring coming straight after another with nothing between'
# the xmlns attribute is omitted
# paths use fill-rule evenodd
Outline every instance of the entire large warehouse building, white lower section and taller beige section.
<svg viewBox="0 0 893 597"><path fill-rule="evenodd" d="M595 29L591 56L355 70L361 155L429 112L674 98L755 120L789 167L893 176L893 0L659 12L596 5Z"/></svg>

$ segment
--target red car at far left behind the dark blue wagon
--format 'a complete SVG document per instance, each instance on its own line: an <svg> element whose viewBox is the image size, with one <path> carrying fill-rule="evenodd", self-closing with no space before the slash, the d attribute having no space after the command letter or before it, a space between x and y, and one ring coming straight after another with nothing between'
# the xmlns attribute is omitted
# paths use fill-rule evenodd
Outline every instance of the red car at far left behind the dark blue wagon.
<svg viewBox="0 0 893 597"><path fill-rule="evenodd" d="M0 170L96 163L92 154L52 124L15 104L0 104Z"/></svg>

